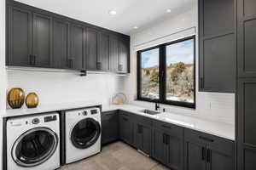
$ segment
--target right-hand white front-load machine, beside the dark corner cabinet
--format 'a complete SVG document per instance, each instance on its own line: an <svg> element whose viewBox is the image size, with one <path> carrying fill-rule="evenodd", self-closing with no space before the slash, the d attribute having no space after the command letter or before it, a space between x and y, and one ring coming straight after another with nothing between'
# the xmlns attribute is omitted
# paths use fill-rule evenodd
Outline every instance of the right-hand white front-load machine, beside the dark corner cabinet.
<svg viewBox="0 0 256 170"><path fill-rule="evenodd" d="M66 163L79 161L101 151L99 108L66 112Z"/></svg>

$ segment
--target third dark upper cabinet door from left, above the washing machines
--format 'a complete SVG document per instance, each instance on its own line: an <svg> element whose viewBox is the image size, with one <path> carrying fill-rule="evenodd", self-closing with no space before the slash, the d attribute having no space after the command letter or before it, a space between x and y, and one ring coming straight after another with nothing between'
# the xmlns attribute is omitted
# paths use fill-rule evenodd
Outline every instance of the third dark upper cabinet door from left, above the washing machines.
<svg viewBox="0 0 256 170"><path fill-rule="evenodd" d="M54 20L53 23L53 67L67 69L69 56L69 23Z"/></svg>

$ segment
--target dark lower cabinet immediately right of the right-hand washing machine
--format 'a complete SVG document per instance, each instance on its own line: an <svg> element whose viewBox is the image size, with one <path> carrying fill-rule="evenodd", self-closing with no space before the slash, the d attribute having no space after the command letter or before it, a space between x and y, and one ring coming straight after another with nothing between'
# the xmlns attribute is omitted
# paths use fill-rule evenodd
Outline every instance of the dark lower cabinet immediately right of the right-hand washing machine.
<svg viewBox="0 0 256 170"><path fill-rule="evenodd" d="M119 139L119 113L118 111L102 112L102 144Z"/></svg>

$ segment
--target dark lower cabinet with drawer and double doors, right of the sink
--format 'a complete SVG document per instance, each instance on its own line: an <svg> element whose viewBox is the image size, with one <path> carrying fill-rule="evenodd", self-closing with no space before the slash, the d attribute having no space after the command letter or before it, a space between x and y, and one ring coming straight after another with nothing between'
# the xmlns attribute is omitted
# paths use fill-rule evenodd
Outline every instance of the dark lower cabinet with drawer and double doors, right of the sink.
<svg viewBox="0 0 256 170"><path fill-rule="evenodd" d="M152 156L174 170L183 169L183 127L154 122Z"/></svg>

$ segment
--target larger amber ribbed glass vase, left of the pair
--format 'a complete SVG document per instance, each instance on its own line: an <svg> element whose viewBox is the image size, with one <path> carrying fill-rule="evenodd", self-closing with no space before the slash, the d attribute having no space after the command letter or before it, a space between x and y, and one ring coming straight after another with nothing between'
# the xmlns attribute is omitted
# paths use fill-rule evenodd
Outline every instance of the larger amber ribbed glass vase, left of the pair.
<svg viewBox="0 0 256 170"><path fill-rule="evenodd" d="M19 109L22 107L25 101L25 94L21 88L10 89L7 96L8 104L13 109Z"/></svg>

